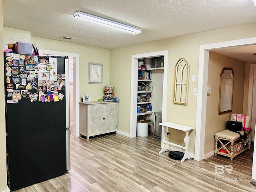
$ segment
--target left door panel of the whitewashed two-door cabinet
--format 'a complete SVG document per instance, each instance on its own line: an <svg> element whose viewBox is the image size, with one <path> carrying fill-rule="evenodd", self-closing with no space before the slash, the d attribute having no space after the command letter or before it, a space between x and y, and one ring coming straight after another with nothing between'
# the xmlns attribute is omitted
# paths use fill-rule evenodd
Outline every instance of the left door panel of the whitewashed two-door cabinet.
<svg viewBox="0 0 256 192"><path fill-rule="evenodd" d="M103 113L104 106L94 105L89 106L89 135L103 132Z"/></svg>

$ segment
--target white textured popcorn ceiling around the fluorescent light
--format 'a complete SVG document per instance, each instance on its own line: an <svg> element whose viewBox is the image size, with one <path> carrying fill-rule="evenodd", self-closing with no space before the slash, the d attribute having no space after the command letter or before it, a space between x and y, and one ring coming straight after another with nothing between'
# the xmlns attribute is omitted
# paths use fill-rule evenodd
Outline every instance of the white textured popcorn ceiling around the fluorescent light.
<svg viewBox="0 0 256 192"><path fill-rule="evenodd" d="M76 11L141 28L142 33L77 19L72 16ZM4 27L108 49L252 22L256 7L251 0L3 0Z"/></svg>

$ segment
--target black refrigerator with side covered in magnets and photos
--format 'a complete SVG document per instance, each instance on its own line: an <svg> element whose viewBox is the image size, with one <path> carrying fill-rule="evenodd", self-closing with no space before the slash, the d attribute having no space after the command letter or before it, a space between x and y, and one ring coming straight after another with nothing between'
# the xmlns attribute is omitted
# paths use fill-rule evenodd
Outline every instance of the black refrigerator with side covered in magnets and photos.
<svg viewBox="0 0 256 192"><path fill-rule="evenodd" d="M7 179L13 191L70 170L68 58L7 52L4 74Z"/></svg>

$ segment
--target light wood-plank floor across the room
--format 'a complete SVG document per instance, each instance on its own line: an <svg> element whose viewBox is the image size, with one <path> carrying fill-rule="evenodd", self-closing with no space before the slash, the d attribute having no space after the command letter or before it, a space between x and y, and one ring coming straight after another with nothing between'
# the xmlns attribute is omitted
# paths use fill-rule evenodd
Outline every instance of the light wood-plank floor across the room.
<svg viewBox="0 0 256 192"><path fill-rule="evenodd" d="M214 138L212 138L214 144ZM71 170L16 192L253 192L253 148L230 160L212 156L180 163L158 154L160 139L110 134L86 140L71 135ZM215 165L232 165L215 174Z"/></svg>

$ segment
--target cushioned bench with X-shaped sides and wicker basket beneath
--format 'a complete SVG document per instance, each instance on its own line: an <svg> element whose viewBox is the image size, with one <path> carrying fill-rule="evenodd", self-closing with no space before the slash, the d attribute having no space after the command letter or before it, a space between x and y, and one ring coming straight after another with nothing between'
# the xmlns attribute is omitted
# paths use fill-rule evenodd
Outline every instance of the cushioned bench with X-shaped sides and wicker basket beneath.
<svg viewBox="0 0 256 192"><path fill-rule="evenodd" d="M244 131L240 131L244 135ZM215 137L215 149L214 154L220 154L223 156L230 157L233 160L234 157L239 155L248 149L250 131L246 132L247 139L245 142L240 140L240 135L230 130L223 130L214 135ZM220 152L223 150L223 152ZM226 152L225 152L226 151Z"/></svg>

